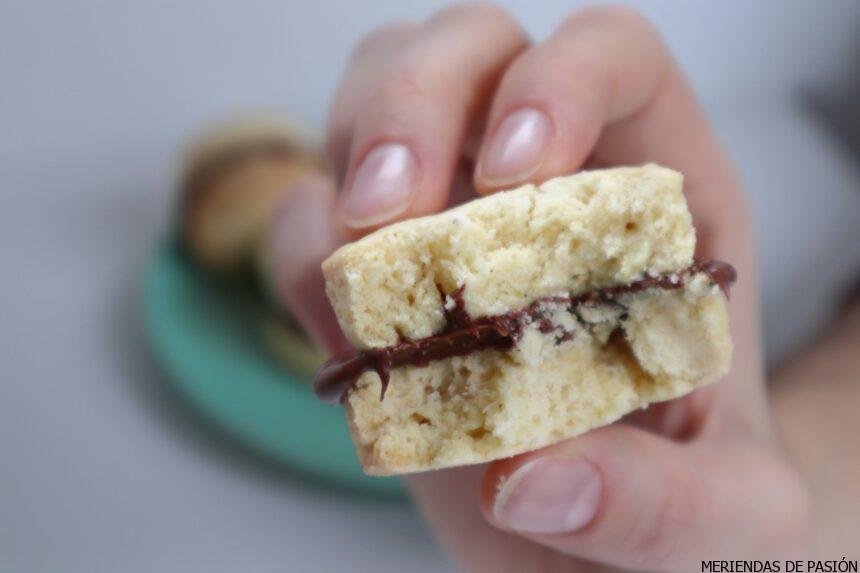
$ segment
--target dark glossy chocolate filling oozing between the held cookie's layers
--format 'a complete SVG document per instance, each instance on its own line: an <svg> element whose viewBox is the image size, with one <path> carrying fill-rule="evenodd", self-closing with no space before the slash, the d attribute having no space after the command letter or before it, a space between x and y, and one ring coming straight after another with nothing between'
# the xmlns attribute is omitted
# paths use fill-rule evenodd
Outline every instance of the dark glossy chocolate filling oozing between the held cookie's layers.
<svg viewBox="0 0 860 573"><path fill-rule="evenodd" d="M375 370L382 382L380 396L382 400L388 388L391 369L398 366L427 366L434 360L465 356L487 348L510 350L522 338L528 324L537 324L538 329L544 334L557 332L557 344L573 338L573 332L552 322L547 313L548 305L565 305L580 323L587 326L577 312L582 305L613 305L626 310L617 300L621 295L646 289L679 289L688 277L697 273L705 273L711 282L719 285L726 296L729 294L729 287L737 278L734 267L728 263L697 259L692 265L679 272L646 277L628 284L602 288L580 295L543 297L520 310L480 318L472 318L466 312L463 301L465 287L461 286L449 295L454 301L454 307L450 309L445 307L445 328L439 334L419 340L401 339L396 344L385 348L372 348L358 353L335 356L317 371L314 391L324 402L342 402L362 373ZM444 293L442 293L442 299L445 299ZM622 312L621 320L625 318L626 313Z"/></svg>

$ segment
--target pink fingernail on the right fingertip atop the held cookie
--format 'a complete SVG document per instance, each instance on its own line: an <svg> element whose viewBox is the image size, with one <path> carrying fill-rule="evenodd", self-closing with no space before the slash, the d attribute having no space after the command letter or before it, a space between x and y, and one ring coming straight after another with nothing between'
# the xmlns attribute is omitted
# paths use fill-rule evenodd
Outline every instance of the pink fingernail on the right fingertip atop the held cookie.
<svg viewBox="0 0 860 573"><path fill-rule="evenodd" d="M513 112L499 125L484 151L478 178L487 185L525 181L543 163L552 122L534 108Z"/></svg>

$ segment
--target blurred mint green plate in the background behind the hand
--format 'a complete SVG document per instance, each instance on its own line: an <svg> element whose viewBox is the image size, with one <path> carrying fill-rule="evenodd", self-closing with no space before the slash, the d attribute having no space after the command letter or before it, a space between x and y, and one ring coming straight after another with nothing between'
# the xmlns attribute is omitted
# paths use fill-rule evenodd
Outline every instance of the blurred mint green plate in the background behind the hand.
<svg viewBox="0 0 860 573"><path fill-rule="evenodd" d="M143 305L156 359L206 417L309 479L403 497L396 478L361 471L341 408L319 402L310 381L268 354L247 294L206 280L166 243L146 269Z"/></svg>

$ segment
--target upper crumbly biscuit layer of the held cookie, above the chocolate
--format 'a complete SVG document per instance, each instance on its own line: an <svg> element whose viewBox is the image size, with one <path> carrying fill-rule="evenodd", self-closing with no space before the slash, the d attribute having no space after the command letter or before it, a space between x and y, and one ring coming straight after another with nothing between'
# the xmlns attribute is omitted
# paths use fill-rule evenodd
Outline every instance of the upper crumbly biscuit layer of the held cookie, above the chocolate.
<svg viewBox="0 0 860 573"><path fill-rule="evenodd" d="M444 324L440 288L471 316L690 264L682 176L656 165L586 171L390 225L323 263L341 328L359 349Z"/></svg>

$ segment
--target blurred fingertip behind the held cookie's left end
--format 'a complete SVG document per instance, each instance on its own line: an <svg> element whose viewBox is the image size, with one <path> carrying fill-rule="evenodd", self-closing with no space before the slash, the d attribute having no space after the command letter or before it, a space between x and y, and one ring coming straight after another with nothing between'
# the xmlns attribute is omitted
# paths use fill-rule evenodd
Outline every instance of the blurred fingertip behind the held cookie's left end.
<svg viewBox="0 0 860 573"><path fill-rule="evenodd" d="M269 234L280 300L322 348L350 349L325 294L320 264L342 242L334 221L334 184L307 176L284 192Z"/></svg>

